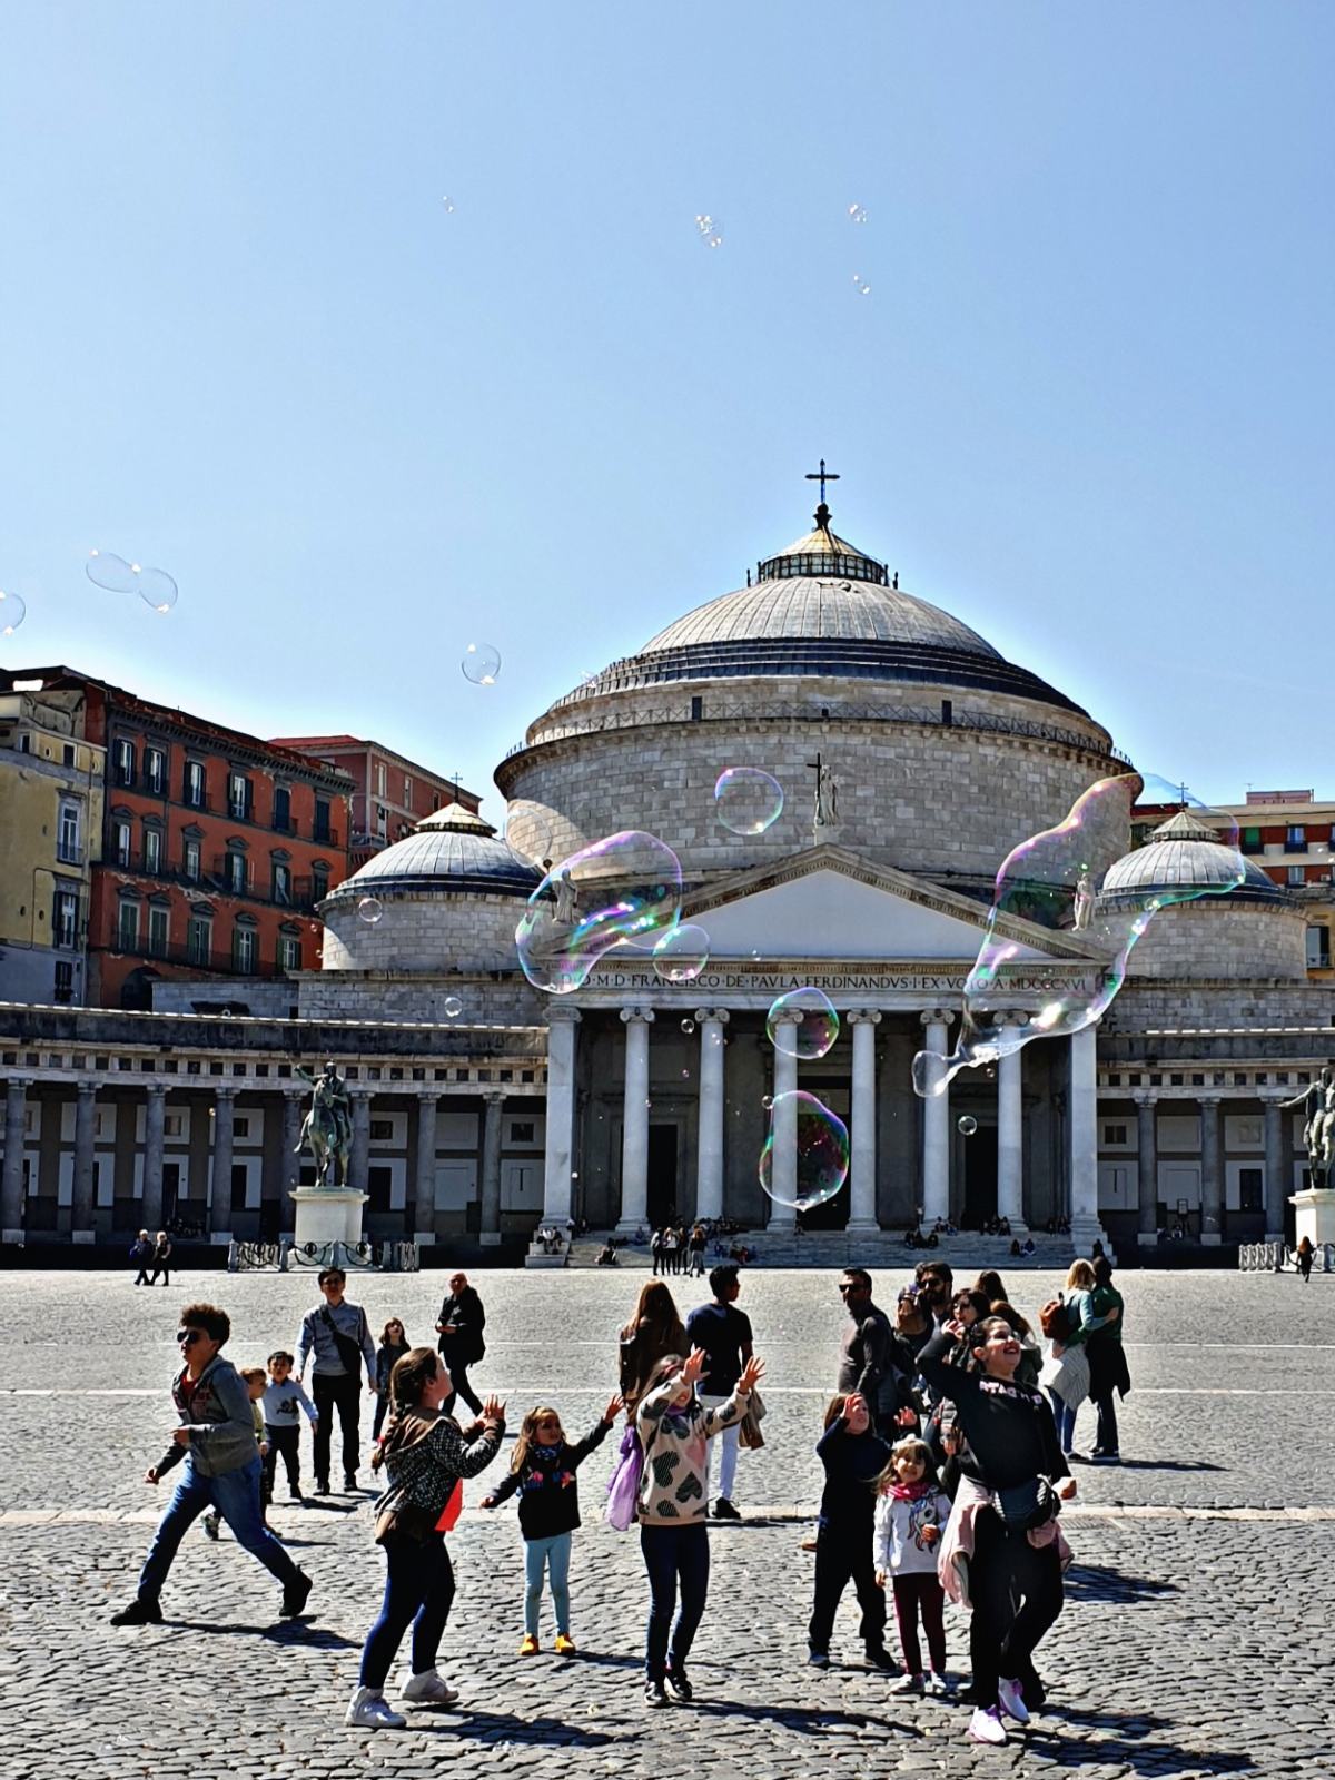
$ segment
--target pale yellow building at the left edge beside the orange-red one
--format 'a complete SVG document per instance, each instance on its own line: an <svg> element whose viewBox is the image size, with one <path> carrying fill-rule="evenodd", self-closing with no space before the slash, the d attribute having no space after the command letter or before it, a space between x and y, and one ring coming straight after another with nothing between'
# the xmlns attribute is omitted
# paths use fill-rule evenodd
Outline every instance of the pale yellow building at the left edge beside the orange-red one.
<svg viewBox="0 0 1335 1780"><path fill-rule="evenodd" d="M84 1004L105 765L82 692L0 694L0 1000Z"/></svg>

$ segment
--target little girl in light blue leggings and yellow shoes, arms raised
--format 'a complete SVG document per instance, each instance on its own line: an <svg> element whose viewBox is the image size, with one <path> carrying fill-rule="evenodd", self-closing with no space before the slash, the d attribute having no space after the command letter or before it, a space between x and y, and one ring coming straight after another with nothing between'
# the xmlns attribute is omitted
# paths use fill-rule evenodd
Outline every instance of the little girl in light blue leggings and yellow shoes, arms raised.
<svg viewBox="0 0 1335 1780"><path fill-rule="evenodd" d="M570 1636L570 1547L580 1524L580 1499L575 1472L595 1447L607 1438L607 1429L621 1410L621 1397L612 1397L584 1440L566 1440L561 1417L548 1404L539 1404L520 1422L520 1438L506 1479L491 1495L482 1497L482 1508L497 1508L518 1492L520 1533L523 1534L527 1588L523 1593L522 1657L538 1655L538 1609L543 1600L543 1572L552 1579L552 1606L555 1607L555 1652L561 1657L575 1654Z"/></svg>

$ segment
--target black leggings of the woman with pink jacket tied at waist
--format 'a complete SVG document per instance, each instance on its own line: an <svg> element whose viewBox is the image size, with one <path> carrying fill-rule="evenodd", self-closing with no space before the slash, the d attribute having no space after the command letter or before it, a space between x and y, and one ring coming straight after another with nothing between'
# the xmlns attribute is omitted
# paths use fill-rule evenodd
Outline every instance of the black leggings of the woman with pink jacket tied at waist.
<svg viewBox="0 0 1335 1780"><path fill-rule="evenodd" d="M1027 1682L1032 1698L1038 1680L1034 1650L1056 1623L1063 1602L1056 1541L1031 1545L1027 1534L1007 1533L997 1511L984 1508L974 1524L968 1593L974 1602L968 1650L977 1703L997 1705L1000 1675Z"/></svg>

